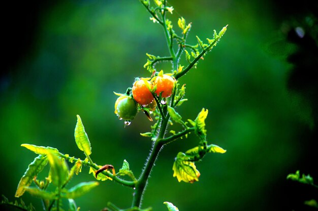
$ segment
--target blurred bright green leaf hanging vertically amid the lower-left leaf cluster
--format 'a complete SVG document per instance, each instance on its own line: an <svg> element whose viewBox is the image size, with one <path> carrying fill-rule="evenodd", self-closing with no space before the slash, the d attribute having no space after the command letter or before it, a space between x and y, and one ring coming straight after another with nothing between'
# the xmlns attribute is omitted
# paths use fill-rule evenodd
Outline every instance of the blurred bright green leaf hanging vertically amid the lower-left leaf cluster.
<svg viewBox="0 0 318 211"><path fill-rule="evenodd" d="M49 153L47 156L51 165L50 179L55 186L62 187L69 177L68 166L65 160L54 153Z"/></svg>

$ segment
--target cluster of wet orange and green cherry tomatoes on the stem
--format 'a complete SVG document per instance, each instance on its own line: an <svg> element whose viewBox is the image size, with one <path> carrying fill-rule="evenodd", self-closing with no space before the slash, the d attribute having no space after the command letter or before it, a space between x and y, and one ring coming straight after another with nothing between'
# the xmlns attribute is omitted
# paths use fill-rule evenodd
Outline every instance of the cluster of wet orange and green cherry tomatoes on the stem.
<svg viewBox="0 0 318 211"><path fill-rule="evenodd" d="M175 79L170 75L161 71L151 79L137 78L133 88L117 98L115 114L128 125L139 110L154 111L156 108L154 97L168 98L172 94Z"/></svg>

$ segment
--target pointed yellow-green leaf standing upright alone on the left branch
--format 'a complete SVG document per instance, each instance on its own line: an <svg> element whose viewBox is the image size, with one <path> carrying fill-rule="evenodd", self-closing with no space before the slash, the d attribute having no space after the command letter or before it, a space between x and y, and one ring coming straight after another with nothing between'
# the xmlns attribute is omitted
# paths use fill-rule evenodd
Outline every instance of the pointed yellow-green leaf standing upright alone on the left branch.
<svg viewBox="0 0 318 211"><path fill-rule="evenodd" d="M77 115L77 123L75 127L74 136L75 136L75 142L77 144L77 147L80 150L84 151L85 154L90 155L91 154L90 142L88 140L88 136L85 132L84 125L79 115Z"/></svg>

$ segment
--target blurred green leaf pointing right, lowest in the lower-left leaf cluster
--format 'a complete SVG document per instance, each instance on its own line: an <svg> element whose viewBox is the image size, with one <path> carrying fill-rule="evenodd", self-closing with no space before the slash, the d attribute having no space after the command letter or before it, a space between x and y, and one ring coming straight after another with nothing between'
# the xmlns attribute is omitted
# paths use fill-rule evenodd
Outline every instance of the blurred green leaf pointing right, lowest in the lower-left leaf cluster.
<svg viewBox="0 0 318 211"><path fill-rule="evenodd" d="M80 184L77 184L76 186L70 188L65 193L63 193L61 196L63 198L77 198L85 193L89 192L94 187L98 186L98 182L82 182Z"/></svg>

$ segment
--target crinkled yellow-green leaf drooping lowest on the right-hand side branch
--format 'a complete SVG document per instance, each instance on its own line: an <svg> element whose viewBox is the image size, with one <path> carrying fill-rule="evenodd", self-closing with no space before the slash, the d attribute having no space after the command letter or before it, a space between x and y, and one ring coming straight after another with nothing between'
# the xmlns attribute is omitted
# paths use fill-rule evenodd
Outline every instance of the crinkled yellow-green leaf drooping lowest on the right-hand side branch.
<svg viewBox="0 0 318 211"><path fill-rule="evenodd" d="M195 163L184 160L184 157L186 157L184 153L178 153L172 167L173 177L177 177L179 182L194 183L199 181L200 172L197 170Z"/></svg>

